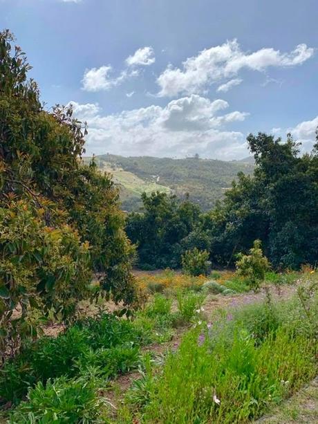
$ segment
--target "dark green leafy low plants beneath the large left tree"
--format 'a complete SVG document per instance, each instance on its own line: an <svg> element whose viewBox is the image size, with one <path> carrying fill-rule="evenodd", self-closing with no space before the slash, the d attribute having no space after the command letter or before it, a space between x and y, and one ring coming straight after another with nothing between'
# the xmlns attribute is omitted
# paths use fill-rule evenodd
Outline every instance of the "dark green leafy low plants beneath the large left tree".
<svg viewBox="0 0 318 424"><path fill-rule="evenodd" d="M101 374L114 376L135 367L142 328L114 315L79 321L56 338L30 342L0 369L0 397L18 403L28 387L48 379L79 376L86 365L100 366Z"/></svg>

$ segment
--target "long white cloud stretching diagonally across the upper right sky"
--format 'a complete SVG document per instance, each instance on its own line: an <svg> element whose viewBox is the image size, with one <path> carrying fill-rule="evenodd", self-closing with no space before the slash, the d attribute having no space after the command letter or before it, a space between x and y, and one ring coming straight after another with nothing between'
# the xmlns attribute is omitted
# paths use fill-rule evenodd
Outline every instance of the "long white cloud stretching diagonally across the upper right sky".
<svg viewBox="0 0 318 424"><path fill-rule="evenodd" d="M308 48L306 44L299 44L290 53L281 53L274 48L245 53L234 39L189 57L181 69L169 65L157 79L159 95L173 97L179 93L202 93L208 84L234 77L242 68L265 71L270 66L296 66L309 59L313 53L314 49Z"/></svg>

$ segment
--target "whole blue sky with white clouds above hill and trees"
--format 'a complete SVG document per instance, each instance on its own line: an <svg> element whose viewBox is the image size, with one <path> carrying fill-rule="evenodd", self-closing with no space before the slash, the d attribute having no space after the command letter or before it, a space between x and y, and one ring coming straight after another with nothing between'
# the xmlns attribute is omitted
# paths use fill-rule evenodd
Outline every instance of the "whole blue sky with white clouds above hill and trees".
<svg viewBox="0 0 318 424"><path fill-rule="evenodd" d="M241 159L246 136L318 127L317 0L0 0L46 109L86 154Z"/></svg>

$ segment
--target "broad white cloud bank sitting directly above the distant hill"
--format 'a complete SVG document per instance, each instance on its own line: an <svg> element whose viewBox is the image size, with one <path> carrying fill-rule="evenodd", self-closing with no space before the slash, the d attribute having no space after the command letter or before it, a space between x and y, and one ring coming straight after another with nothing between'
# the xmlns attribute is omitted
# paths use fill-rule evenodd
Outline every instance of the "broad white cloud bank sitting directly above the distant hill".
<svg viewBox="0 0 318 424"><path fill-rule="evenodd" d="M247 154L245 137L226 125L244 120L247 113L232 111L225 100L190 95L165 107L149 107L103 116L97 104L71 102L75 116L88 122L86 151L111 151L125 156L178 156L198 153L233 159Z"/></svg>

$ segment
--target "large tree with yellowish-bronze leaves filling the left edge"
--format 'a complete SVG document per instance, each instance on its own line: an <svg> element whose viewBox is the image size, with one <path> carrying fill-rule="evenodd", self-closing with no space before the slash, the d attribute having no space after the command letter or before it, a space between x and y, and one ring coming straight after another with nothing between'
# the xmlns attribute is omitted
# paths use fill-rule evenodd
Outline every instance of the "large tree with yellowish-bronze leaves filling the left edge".
<svg viewBox="0 0 318 424"><path fill-rule="evenodd" d="M93 270L104 275L100 293L133 298L118 192L93 163L81 165L85 125L71 109L45 111L29 70L0 33L0 356L36 334L33 308L69 319Z"/></svg>

